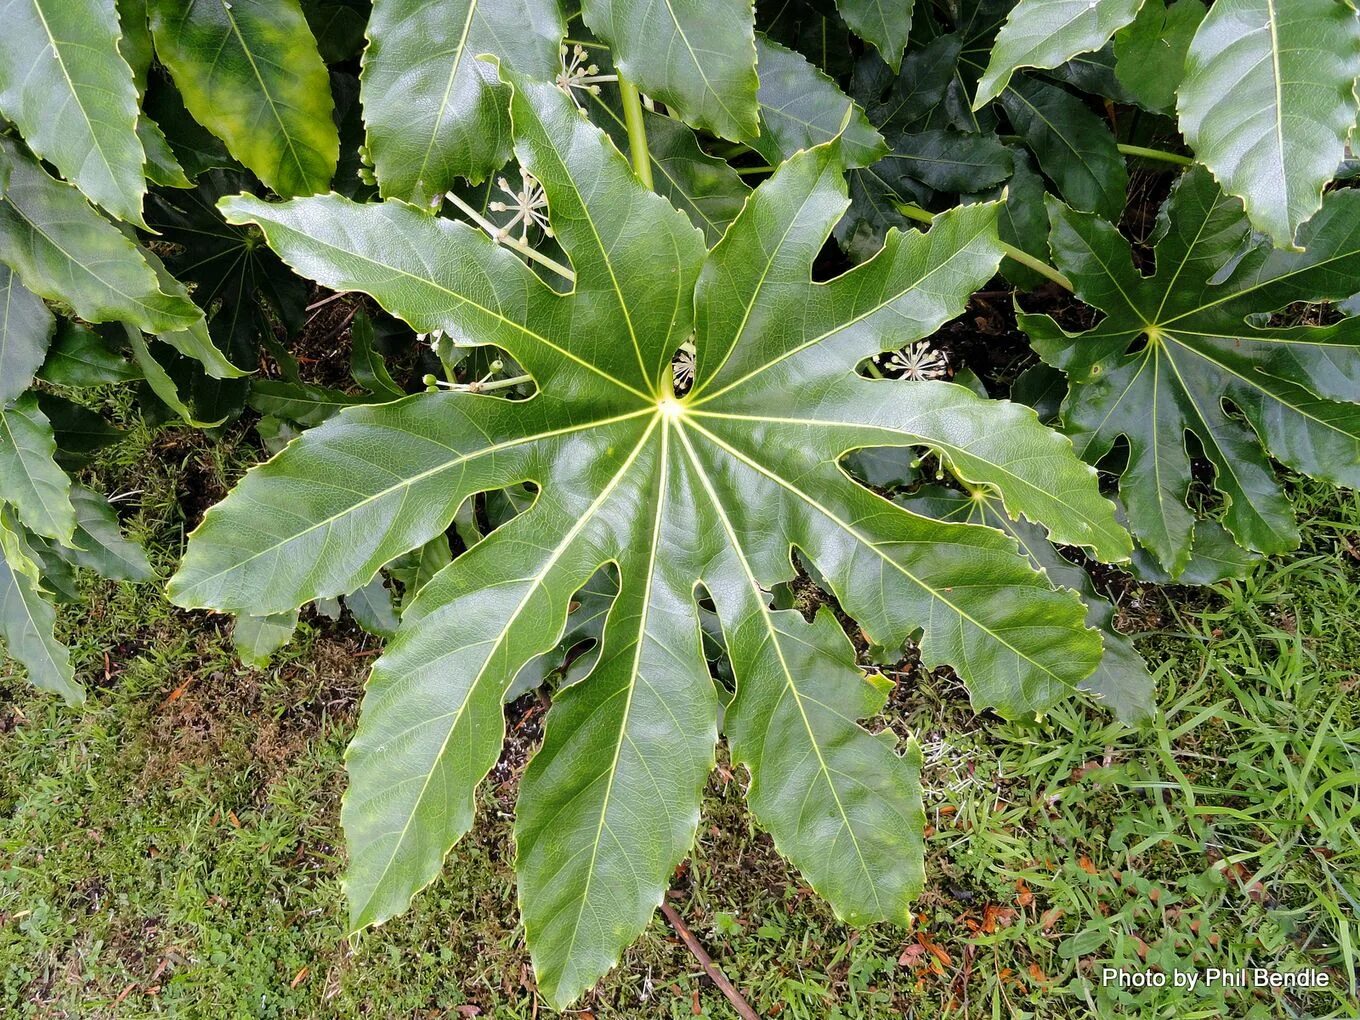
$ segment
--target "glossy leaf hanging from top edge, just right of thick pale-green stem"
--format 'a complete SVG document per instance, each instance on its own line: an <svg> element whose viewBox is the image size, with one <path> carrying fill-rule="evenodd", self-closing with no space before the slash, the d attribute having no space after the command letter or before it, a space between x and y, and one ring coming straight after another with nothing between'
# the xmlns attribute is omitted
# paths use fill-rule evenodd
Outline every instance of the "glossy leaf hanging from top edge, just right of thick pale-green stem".
<svg viewBox="0 0 1360 1020"><path fill-rule="evenodd" d="M581 18L619 73L685 124L733 141L760 133L749 0L585 0Z"/></svg>

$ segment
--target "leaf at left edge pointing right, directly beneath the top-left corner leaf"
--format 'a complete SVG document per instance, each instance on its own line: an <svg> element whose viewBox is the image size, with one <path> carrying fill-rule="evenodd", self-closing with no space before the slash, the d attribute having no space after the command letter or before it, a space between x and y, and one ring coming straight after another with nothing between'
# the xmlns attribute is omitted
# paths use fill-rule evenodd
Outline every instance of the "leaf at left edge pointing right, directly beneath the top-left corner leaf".
<svg viewBox="0 0 1360 1020"><path fill-rule="evenodd" d="M0 258L29 290L68 305L87 322L135 322L148 333L189 329L203 313L162 291L155 269L122 233L0 137L10 185L0 201Z"/></svg>

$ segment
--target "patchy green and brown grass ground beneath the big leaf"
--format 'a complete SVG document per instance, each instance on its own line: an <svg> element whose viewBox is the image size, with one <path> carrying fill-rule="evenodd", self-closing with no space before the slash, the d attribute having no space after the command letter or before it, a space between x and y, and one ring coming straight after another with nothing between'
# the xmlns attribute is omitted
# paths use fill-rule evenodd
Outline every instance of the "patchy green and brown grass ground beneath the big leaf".
<svg viewBox="0 0 1360 1020"><path fill-rule="evenodd" d="M171 567L252 452L132 432L132 530ZM1304 548L1213 593L1134 592L1164 721L975 717L911 676L930 884L913 930L847 929L714 774L676 908L762 1016L1276 1017L1360 1010L1360 499L1297 483ZM347 938L341 753L371 654L305 620L264 672L155 583L64 617L80 711L0 679L0 1010L41 1017L533 1017L510 870L514 770L409 911ZM106 658L107 656L107 658ZM0 668L3 669L3 668ZM499 772L498 772L499 775ZM1325 970L1331 987L1119 989L1102 968ZM732 1017L660 918L581 1016ZM1168 982L1170 985L1170 982Z"/></svg>

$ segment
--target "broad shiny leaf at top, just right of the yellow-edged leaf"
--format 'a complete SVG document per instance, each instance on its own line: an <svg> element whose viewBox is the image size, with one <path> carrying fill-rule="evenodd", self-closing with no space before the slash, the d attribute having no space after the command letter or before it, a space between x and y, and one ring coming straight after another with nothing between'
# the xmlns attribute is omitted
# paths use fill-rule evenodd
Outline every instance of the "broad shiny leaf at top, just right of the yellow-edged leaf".
<svg viewBox="0 0 1360 1020"><path fill-rule="evenodd" d="M418 205L510 158L506 92L491 64L540 79L560 69L556 0L377 0L363 54L363 120L384 197Z"/></svg>

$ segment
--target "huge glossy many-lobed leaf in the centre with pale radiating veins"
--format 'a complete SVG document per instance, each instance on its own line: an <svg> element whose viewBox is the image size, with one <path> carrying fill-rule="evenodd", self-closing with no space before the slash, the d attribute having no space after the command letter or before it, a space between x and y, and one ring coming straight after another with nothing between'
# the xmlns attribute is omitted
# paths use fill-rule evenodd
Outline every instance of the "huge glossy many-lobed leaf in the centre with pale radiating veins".
<svg viewBox="0 0 1360 1020"><path fill-rule="evenodd" d="M598 661L558 692L517 808L540 990L566 1004L617 962L694 839L718 736L700 588L736 676L724 728L756 817L842 917L904 922L922 880L918 759L857 725L884 692L835 617L771 607L792 548L876 642L921 631L925 661L952 662L979 707L1042 710L1095 669L1100 642L1010 539L896 507L842 454L926 446L1057 540L1129 552L1092 469L1028 408L855 374L996 272L996 205L891 233L877 258L813 284L846 205L834 146L786 162L706 252L562 91L511 79L515 154L547 192L568 294L398 201L224 208L326 287L505 350L537 392L341 411L208 511L171 597L275 613L354 592L442 539L469 495L532 481L532 506L420 589L374 668L343 809L352 922L392 917L438 873L496 760L503 694L605 564L619 593ZM670 362L691 336L695 385L676 397Z"/></svg>

